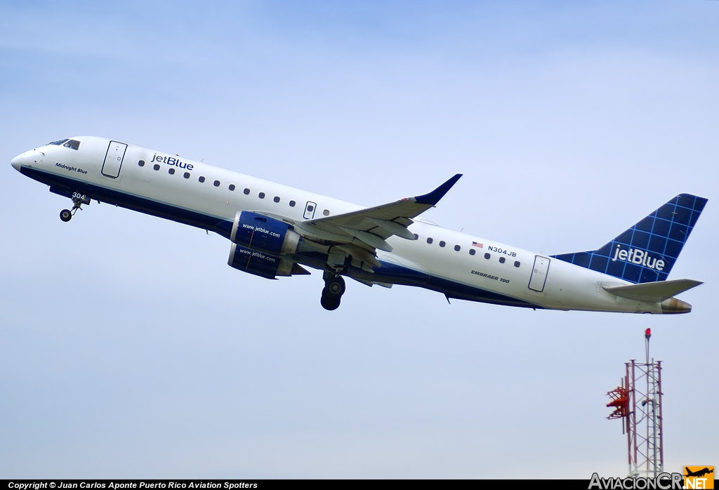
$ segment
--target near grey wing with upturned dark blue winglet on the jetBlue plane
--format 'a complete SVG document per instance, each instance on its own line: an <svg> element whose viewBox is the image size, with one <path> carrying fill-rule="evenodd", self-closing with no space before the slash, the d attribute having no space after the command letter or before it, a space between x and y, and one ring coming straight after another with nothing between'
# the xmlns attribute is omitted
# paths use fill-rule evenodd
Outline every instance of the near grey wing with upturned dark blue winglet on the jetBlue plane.
<svg viewBox="0 0 719 490"><path fill-rule="evenodd" d="M407 229L413 221L434 205L457 183L462 174L454 175L431 193L404 198L374 208L365 208L352 213L328 216L296 223L306 234L326 241L352 243L369 251L375 249L392 251L385 240L396 235L414 240L414 234Z"/></svg>

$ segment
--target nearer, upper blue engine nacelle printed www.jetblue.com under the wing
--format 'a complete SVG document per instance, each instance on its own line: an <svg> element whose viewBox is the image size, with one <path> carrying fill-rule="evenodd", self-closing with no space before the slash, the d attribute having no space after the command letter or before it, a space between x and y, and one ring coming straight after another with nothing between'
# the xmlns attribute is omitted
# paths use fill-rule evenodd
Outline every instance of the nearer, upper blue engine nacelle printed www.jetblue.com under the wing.
<svg viewBox="0 0 719 490"><path fill-rule="evenodd" d="M230 235L234 244L270 255L294 254L300 238L288 223L251 211L234 216Z"/></svg>

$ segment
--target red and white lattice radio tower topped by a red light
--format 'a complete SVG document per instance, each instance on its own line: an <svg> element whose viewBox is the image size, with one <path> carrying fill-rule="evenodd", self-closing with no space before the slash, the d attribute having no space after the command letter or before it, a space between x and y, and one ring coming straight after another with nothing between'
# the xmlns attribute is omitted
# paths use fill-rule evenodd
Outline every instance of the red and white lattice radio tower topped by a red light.
<svg viewBox="0 0 719 490"><path fill-rule="evenodd" d="M627 435L629 476L656 477L664 471L664 445L661 422L661 361L649 357L651 328L644 331L646 362L625 363L626 374L620 386L608 392L608 419L622 419Z"/></svg>

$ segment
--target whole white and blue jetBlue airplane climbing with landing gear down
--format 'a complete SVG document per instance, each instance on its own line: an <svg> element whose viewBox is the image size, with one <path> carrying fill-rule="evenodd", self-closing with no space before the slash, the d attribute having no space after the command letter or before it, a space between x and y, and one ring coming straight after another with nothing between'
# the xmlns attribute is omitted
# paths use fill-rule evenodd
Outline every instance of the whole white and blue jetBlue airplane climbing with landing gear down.
<svg viewBox="0 0 719 490"><path fill-rule="evenodd" d="M409 285L496 305L623 313L688 313L675 295L702 284L667 280L707 199L680 194L594 251L542 255L419 218L462 175L431 193L373 208L99 137L61 139L12 166L72 200L91 200L232 241L228 264L267 279L324 271L321 305L339 306L342 276Z"/></svg>

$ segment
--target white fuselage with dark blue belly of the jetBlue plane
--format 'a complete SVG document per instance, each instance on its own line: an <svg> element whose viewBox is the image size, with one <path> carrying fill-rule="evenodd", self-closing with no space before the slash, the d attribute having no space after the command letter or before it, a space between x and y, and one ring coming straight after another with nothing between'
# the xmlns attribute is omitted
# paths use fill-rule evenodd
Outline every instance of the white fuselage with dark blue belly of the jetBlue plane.
<svg viewBox="0 0 719 490"><path fill-rule="evenodd" d="M364 209L134 144L99 137L70 141L80 142L77 149L66 143L49 144L20 154L12 165L69 198L74 195L84 203L99 200L119 205L214 231L228 239L238 211L286 218L298 223L295 229L303 235L303 222ZM389 236L386 243L392 251L376 250L381 267L347 267L336 272L369 285L412 285L448 298L526 308L624 313L685 313L691 309L675 298L651 302L612 294L603 286L632 282L442 228L422 218L414 218L408 230L416 239ZM330 241L317 237L313 243L329 246ZM320 247L283 258L327 271L331 263L324 252ZM658 263L654 259L653 267Z"/></svg>

